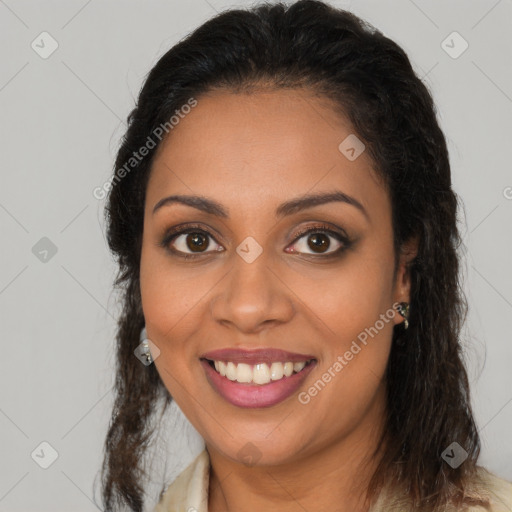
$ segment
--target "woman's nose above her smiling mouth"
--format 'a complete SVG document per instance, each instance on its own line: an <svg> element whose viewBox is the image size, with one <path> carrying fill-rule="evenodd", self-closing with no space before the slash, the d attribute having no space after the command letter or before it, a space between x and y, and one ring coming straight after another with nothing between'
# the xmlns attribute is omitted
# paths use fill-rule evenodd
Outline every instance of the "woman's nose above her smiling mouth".
<svg viewBox="0 0 512 512"><path fill-rule="evenodd" d="M293 318L293 292L263 254L252 263L234 257L233 267L210 302L215 321L250 334Z"/></svg>

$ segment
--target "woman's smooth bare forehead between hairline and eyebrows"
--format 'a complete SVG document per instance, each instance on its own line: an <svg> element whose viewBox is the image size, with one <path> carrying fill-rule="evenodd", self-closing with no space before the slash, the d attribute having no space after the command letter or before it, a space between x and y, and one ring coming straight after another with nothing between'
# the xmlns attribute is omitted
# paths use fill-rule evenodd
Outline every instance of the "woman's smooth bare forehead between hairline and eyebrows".
<svg viewBox="0 0 512 512"><path fill-rule="evenodd" d="M336 188L367 210L387 208L367 152L355 160L343 152L344 141L354 136L329 100L307 90L210 92L197 98L161 143L148 203L167 193L195 193L235 208L254 205L257 198L264 207Z"/></svg>

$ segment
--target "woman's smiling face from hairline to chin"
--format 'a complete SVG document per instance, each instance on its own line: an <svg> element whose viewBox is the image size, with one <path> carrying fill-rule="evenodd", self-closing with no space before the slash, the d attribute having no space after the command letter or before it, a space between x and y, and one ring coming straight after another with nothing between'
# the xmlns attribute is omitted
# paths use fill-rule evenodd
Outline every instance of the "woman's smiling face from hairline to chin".
<svg viewBox="0 0 512 512"><path fill-rule="evenodd" d="M393 303L408 301L409 281L405 256L393 278L390 199L352 134L304 90L217 91L153 162L140 269L148 338L181 410L233 461L367 446L382 425L403 321Z"/></svg>

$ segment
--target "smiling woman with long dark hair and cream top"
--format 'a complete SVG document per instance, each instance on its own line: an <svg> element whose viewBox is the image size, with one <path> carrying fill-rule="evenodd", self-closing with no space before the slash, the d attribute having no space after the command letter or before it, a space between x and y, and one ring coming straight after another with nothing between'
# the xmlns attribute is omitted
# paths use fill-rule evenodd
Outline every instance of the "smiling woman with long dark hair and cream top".
<svg viewBox="0 0 512 512"><path fill-rule="evenodd" d="M142 510L163 397L205 450L156 512L512 510L477 466L457 196L403 50L318 1L228 11L128 121L105 509Z"/></svg>

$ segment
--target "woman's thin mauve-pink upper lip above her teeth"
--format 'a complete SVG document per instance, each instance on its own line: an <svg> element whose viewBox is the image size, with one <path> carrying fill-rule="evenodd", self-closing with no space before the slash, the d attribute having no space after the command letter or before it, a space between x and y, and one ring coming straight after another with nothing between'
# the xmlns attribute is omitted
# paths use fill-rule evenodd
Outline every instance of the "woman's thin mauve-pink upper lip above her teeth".
<svg viewBox="0 0 512 512"><path fill-rule="evenodd" d="M277 348L256 348L251 350L222 348L206 352L200 356L200 358L210 359L211 361L231 361L233 363L246 364L272 364L277 362L286 363L288 361L292 363L299 363L301 361L306 362L310 359L315 359L312 355L298 354L296 352L288 352Z"/></svg>

